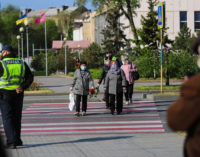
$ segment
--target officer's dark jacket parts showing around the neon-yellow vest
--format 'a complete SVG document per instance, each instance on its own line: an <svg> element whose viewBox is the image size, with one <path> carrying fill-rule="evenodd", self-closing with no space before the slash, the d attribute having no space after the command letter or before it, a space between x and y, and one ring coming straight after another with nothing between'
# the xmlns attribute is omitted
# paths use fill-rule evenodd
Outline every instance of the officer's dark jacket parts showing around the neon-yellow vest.
<svg viewBox="0 0 200 157"><path fill-rule="evenodd" d="M14 57L15 56L7 55L4 58L14 58ZM0 63L0 77L3 76L3 73L4 73L4 68L2 66L2 63ZM32 82L33 82L33 74L31 72L30 68L28 67L28 65L25 63L25 76L24 76L24 82L21 84L21 87L25 90L30 87ZM12 93L16 93L16 91L0 89L0 93L1 94L12 94Z"/></svg>

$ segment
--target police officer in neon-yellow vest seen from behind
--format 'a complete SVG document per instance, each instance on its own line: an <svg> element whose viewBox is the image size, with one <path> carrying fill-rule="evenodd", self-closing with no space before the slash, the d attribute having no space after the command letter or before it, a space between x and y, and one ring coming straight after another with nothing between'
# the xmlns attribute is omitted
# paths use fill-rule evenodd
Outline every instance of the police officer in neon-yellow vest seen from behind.
<svg viewBox="0 0 200 157"><path fill-rule="evenodd" d="M0 61L0 108L7 148L22 146L21 117L24 90L33 82L33 75L24 62L16 58L13 49L5 45L1 51Z"/></svg>

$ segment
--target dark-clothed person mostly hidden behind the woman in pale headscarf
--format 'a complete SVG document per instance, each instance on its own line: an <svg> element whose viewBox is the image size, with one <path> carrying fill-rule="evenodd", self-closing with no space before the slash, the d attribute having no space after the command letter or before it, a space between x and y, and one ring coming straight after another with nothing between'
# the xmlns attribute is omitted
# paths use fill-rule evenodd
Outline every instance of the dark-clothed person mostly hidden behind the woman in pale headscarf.
<svg viewBox="0 0 200 157"><path fill-rule="evenodd" d="M99 87L101 85L102 81L104 81L103 84L105 84L106 75L107 75L108 71L110 70L110 61L111 61L111 59L109 57L107 57L105 65L103 66L103 71L101 73L97 87ZM109 108L110 106L109 106L108 89L106 89L106 91L104 93L103 100L106 101L106 108Z"/></svg>

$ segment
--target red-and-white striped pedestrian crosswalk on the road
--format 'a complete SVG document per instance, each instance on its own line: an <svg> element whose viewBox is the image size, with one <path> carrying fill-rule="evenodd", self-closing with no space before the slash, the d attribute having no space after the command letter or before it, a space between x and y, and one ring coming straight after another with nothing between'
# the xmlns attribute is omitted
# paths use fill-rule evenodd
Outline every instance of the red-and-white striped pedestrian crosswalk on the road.
<svg viewBox="0 0 200 157"><path fill-rule="evenodd" d="M86 117L74 117L68 104L32 104L23 111L22 136L164 133L153 102L125 105L111 115L104 102L88 103ZM3 133L3 127L0 127Z"/></svg>

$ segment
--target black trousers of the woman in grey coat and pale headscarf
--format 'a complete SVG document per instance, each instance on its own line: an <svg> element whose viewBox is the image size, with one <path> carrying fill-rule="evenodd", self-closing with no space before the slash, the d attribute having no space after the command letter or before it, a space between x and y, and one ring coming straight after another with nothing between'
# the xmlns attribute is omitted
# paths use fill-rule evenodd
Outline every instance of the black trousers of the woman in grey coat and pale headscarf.
<svg viewBox="0 0 200 157"><path fill-rule="evenodd" d="M111 113L113 113L116 108L115 97L117 97L117 113L121 113L123 109L123 93L117 93L117 95L109 94Z"/></svg>

